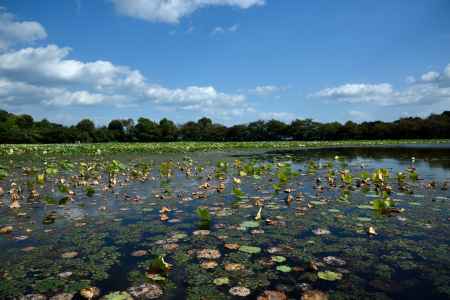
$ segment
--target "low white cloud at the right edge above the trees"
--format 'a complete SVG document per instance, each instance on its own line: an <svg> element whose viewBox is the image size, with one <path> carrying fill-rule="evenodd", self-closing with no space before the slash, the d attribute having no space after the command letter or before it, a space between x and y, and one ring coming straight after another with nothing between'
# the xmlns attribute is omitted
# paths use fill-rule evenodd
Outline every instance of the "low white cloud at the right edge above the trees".
<svg viewBox="0 0 450 300"><path fill-rule="evenodd" d="M320 90L310 97L382 106L450 103L450 65L442 73L427 72L420 80L410 80L404 89L394 89L389 83L349 83Z"/></svg>

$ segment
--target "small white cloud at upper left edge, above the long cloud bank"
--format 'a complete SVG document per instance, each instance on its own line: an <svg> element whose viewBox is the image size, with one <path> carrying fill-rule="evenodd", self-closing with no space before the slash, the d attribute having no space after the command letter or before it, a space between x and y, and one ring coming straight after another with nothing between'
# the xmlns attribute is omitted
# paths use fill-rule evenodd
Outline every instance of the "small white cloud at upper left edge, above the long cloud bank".
<svg viewBox="0 0 450 300"><path fill-rule="evenodd" d="M46 37L47 32L38 22L19 22L13 14L0 7L0 50L18 43L30 43Z"/></svg>

